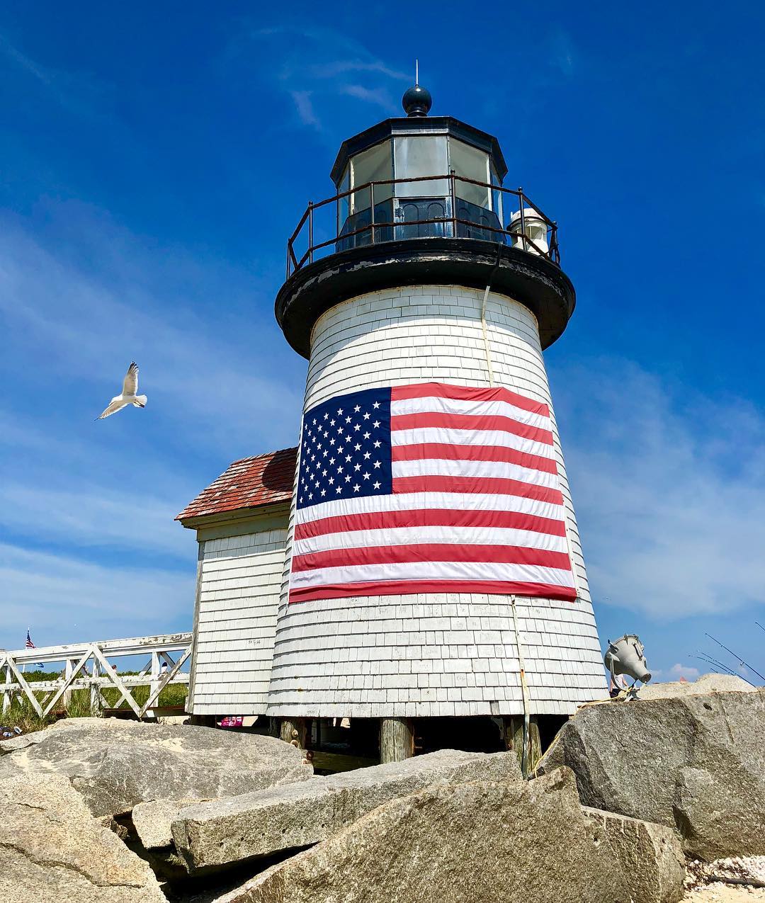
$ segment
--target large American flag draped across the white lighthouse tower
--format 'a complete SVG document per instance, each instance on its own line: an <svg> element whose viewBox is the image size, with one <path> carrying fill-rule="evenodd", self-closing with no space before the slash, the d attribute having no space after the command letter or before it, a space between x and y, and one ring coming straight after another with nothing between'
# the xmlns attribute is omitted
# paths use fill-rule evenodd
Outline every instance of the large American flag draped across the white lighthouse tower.
<svg viewBox="0 0 765 903"><path fill-rule="evenodd" d="M423 383L304 414L290 601L417 592L576 598L547 405Z"/></svg>

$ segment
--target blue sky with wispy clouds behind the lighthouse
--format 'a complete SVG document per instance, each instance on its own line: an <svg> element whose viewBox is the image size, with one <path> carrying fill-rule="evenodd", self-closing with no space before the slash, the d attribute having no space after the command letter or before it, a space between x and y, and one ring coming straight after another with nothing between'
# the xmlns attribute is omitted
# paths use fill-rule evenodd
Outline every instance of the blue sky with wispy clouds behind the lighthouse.
<svg viewBox="0 0 765 903"><path fill-rule="evenodd" d="M760 5L0 13L0 647L190 628L173 517L296 441L285 239L415 56L499 137L578 306L546 354L602 640L765 673ZM94 417L131 359L144 411ZM717 650L721 651L721 650Z"/></svg>

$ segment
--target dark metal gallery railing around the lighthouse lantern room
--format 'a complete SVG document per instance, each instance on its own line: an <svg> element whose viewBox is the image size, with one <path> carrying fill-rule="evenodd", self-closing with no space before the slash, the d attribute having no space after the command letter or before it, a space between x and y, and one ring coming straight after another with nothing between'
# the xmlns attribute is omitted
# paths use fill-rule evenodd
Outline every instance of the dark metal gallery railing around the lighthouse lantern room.
<svg viewBox="0 0 765 903"><path fill-rule="evenodd" d="M412 201L407 193L406 197L396 195L393 187L396 185L411 185L413 183L448 182L448 195L427 195L427 184L424 184L424 197L421 202L428 203L431 208L437 208L438 202L445 202L442 215L425 216L417 219L396 219L393 203ZM460 197L458 184L464 183L479 189L486 189L488 197L507 198L518 200L518 211L512 222L506 228L502 228L501 222L495 210L482 208ZM390 187L390 194L384 200L375 200L375 190L386 191ZM368 218L360 218L356 211L351 212L350 206L359 206L359 196L369 192L368 207L361 212L369 211ZM351 200L353 198L353 201ZM364 203L361 200L360 203ZM345 205L347 215L341 216L341 205ZM400 208L399 208L400 209ZM534 219L541 220L546 229L544 243L535 241L527 229L527 220L531 215L527 209L534 211ZM333 220L333 225L328 228L328 219ZM414 234L416 230L417 234ZM477 182L464 176L450 172L448 175L420 176L413 179L381 179L377 182L365 182L363 185L354 186L348 191L341 191L331 198L309 201L303 213L303 217L297 224L292 236L287 241L287 265L286 275L289 278L305 264L313 263L315 259L329 256L349 247L362 245L376 245L394 238L411 237L464 237L480 238L484 241L509 243L521 247L530 253L546 257L552 263L560 264L560 252L557 240L557 224L549 219L536 204L528 198L523 189L513 190L492 185L489 182Z"/></svg>

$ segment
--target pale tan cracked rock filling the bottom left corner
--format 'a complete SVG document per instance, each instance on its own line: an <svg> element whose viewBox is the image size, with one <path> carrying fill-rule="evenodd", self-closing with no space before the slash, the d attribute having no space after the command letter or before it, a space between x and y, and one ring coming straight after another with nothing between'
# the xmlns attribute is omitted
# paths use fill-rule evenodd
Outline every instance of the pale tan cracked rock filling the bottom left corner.
<svg viewBox="0 0 765 903"><path fill-rule="evenodd" d="M0 780L4 903L166 903L148 864L90 815L66 777Z"/></svg>

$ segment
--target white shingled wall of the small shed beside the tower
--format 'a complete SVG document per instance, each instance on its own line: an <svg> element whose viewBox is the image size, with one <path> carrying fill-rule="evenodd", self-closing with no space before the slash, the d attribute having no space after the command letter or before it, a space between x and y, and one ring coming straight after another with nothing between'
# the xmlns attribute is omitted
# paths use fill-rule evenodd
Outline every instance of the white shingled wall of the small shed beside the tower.
<svg viewBox="0 0 765 903"><path fill-rule="evenodd" d="M275 521L282 526L275 528ZM276 611L285 567L286 513L269 528L201 539L193 663L194 714L266 712ZM245 527L240 527L245 528Z"/></svg>

